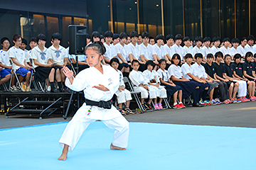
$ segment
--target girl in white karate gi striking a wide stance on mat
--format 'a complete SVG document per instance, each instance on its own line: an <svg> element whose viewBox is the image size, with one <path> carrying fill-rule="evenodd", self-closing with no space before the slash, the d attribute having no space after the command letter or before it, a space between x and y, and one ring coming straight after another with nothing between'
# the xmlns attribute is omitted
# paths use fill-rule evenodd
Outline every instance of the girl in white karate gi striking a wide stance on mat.
<svg viewBox="0 0 256 170"><path fill-rule="evenodd" d="M110 149L125 150L128 145L129 123L111 104L111 98L119 87L119 75L112 67L101 64L105 53L102 42L87 45L85 53L90 68L82 70L76 77L68 67L63 67L67 77L65 85L74 91L83 90L85 94L85 103L70 120L59 141L63 153L58 159L63 161L67 159L68 151L75 148L82 132L96 120L102 120L115 130Z"/></svg>

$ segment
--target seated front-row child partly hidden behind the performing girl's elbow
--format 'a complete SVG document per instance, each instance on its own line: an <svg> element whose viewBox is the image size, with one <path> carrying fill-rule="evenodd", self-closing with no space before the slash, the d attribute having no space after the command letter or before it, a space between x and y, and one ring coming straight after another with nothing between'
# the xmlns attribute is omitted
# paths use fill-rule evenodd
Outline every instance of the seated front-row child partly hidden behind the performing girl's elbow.
<svg viewBox="0 0 256 170"><path fill-rule="evenodd" d="M128 91L127 89L124 89L125 84L124 84L124 77L122 75L122 72L120 72L117 68L119 65L119 60L117 58L112 58L110 60L110 65L113 67L119 74L119 88L115 92L117 95L117 103L118 103L118 111L122 113L122 115L126 114L134 114L134 112L129 109L129 103L132 100L132 95L131 92ZM122 104L125 103L125 108L122 109Z"/></svg>

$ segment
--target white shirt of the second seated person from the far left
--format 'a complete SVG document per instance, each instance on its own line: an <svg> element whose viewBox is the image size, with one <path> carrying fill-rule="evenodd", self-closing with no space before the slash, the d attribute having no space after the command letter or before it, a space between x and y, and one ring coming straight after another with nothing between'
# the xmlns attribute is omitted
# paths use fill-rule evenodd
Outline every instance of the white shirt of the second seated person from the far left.
<svg viewBox="0 0 256 170"><path fill-rule="evenodd" d="M8 50L8 55L10 58L15 58L15 60L22 64L23 66L25 66L24 62L25 62L25 52L23 50L21 50L20 48L16 48L16 47L11 47ZM13 69L16 71L17 69L19 69L20 67L16 64L13 64Z"/></svg>

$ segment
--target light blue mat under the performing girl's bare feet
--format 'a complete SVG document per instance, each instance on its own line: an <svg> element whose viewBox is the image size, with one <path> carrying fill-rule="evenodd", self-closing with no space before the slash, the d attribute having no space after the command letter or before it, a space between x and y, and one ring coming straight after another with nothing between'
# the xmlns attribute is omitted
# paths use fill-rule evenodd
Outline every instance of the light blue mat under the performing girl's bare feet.
<svg viewBox="0 0 256 170"><path fill-rule="evenodd" d="M0 130L0 169L256 169L256 129L130 123L129 147L111 150L113 130L92 123L65 162L67 123Z"/></svg>

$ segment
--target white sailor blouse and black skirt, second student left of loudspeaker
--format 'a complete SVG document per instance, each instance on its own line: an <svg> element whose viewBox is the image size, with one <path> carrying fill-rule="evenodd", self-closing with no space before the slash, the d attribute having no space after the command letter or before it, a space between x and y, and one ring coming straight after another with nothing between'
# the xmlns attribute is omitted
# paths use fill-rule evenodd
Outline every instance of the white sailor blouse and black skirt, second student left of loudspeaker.
<svg viewBox="0 0 256 170"><path fill-rule="evenodd" d="M39 49L38 46L34 47L31 50L31 58L36 60L37 62L41 64L48 64L48 49L46 47L43 47L43 52ZM51 69L53 67L41 67L36 65L34 62L32 63L33 67L35 68L35 79L36 81L45 81L48 79Z"/></svg>

